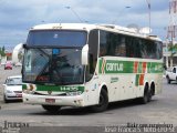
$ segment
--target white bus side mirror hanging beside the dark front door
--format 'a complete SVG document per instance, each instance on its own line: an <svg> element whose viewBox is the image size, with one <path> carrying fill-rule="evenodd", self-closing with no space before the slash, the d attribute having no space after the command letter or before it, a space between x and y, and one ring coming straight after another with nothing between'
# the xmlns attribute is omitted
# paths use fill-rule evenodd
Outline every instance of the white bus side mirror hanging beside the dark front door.
<svg viewBox="0 0 177 133"><path fill-rule="evenodd" d="M87 63L88 63L88 44L85 44L82 49L81 62L83 65L87 65Z"/></svg>

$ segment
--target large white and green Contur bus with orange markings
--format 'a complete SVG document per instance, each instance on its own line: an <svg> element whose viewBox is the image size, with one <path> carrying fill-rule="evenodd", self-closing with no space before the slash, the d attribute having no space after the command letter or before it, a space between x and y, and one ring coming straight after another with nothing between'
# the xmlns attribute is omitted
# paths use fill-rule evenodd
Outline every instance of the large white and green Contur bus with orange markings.
<svg viewBox="0 0 177 133"><path fill-rule="evenodd" d="M162 92L163 44L155 35L111 24L49 23L31 28L23 48L23 102L48 112L102 112L110 102L147 103Z"/></svg>

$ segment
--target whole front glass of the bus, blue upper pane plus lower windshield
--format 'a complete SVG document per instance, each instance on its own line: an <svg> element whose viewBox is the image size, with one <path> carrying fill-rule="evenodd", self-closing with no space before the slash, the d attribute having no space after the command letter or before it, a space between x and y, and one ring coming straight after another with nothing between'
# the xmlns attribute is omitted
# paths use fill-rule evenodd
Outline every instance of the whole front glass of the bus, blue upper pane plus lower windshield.
<svg viewBox="0 0 177 133"><path fill-rule="evenodd" d="M86 41L86 31L31 30L24 53L23 82L83 83L81 50Z"/></svg>

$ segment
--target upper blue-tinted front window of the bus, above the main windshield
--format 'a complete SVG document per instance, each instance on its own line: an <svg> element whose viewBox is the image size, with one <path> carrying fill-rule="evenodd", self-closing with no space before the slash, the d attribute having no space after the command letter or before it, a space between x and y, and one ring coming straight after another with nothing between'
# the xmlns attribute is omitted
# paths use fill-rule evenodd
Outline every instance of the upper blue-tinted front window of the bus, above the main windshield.
<svg viewBox="0 0 177 133"><path fill-rule="evenodd" d="M85 31L33 30L30 31L27 45L31 47L83 47L86 44Z"/></svg>

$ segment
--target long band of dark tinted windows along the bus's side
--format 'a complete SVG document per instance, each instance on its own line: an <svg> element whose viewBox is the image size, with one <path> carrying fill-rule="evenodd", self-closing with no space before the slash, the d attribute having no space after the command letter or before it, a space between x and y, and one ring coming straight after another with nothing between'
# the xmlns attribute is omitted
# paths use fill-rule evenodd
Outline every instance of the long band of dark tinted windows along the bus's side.
<svg viewBox="0 0 177 133"><path fill-rule="evenodd" d="M162 42L107 31L100 33L100 57L162 59Z"/></svg>

